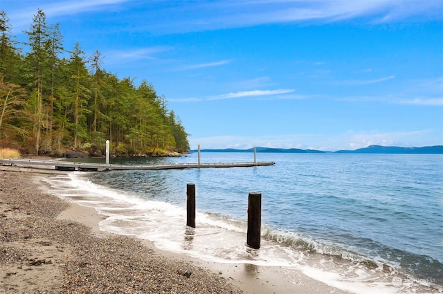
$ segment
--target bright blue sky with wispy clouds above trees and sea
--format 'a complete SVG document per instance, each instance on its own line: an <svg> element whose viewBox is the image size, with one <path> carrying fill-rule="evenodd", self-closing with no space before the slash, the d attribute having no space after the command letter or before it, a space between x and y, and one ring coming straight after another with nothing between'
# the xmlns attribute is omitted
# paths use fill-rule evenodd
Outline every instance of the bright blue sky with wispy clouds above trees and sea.
<svg viewBox="0 0 443 294"><path fill-rule="evenodd" d="M0 0L147 80L196 149L443 145L442 0Z"/></svg>

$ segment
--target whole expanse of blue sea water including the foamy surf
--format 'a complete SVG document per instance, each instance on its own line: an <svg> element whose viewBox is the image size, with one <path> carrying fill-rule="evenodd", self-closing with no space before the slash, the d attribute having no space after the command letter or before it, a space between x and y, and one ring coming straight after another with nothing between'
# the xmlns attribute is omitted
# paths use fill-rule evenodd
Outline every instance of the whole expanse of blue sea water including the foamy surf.
<svg viewBox="0 0 443 294"><path fill-rule="evenodd" d="M111 159L111 163L117 163ZM264 167L72 172L51 192L96 208L100 229L210 261L298 268L354 293L443 293L443 156L257 154ZM202 153L202 163L253 161ZM197 163L143 158L118 163ZM197 228L186 227L196 185ZM262 194L260 250L246 246L248 193Z"/></svg>

